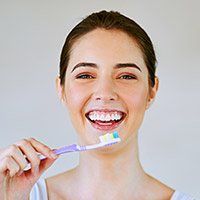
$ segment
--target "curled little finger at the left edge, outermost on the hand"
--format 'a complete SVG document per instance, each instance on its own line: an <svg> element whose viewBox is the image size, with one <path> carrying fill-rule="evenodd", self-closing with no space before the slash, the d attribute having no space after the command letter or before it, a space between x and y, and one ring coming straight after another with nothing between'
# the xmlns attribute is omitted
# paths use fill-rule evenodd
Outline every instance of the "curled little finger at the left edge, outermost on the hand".
<svg viewBox="0 0 200 200"><path fill-rule="evenodd" d="M11 156L5 156L0 163L0 173L5 174L7 170L10 177L13 177L20 170L20 166Z"/></svg>

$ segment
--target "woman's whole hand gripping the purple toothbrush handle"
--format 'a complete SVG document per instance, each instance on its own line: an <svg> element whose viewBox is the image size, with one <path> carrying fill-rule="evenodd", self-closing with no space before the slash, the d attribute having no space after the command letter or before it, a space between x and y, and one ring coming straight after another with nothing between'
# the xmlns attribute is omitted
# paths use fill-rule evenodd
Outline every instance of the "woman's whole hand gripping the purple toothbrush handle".
<svg viewBox="0 0 200 200"><path fill-rule="evenodd" d="M38 153L47 158L40 160ZM28 200L33 185L57 158L48 146L34 138L0 149L0 200ZM24 171L28 162L31 169Z"/></svg>

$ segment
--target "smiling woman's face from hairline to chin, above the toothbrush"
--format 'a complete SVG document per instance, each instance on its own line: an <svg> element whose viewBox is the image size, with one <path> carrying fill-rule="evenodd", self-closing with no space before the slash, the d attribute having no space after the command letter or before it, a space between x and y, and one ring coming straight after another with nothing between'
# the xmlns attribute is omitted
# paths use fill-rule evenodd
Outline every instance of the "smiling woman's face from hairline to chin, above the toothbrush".
<svg viewBox="0 0 200 200"><path fill-rule="evenodd" d="M150 98L148 70L137 43L122 31L104 29L78 39L64 95L80 144L98 142L100 135L115 130L122 141L135 138Z"/></svg>

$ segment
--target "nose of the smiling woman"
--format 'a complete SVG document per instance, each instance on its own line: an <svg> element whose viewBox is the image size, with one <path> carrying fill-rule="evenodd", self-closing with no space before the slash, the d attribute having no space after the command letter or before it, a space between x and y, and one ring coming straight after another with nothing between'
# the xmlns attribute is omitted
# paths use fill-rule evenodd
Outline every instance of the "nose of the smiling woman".
<svg viewBox="0 0 200 200"><path fill-rule="evenodd" d="M112 80L99 80L95 85L93 98L96 101L115 101L118 98L116 88Z"/></svg>

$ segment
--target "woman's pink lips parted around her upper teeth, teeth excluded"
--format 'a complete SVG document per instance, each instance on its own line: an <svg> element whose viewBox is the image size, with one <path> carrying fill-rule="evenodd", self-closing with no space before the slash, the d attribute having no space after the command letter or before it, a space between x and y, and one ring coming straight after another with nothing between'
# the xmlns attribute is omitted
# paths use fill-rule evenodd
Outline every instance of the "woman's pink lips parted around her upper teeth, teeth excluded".
<svg viewBox="0 0 200 200"><path fill-rule="evenodd" d="M100 119L97 119L97 120L92 120L89 115L91 112L97 112L97 113L101 113L101 114L104 114L104 115L107 115L107 114L112 114L112 113L115 113L115 114L118 114L120 115L120 119L112 119L110 121L105 121L105 120L100 120ZM103 109L103 110L90 110L89 112L87 112L85 114L86 118L88 119L88 121L90 122L90 124L95 128L95 129L98 129L98 130L101 130L101 131L111 131L113 129L116 129L124 120L124 118L126 117L126 113L125 112L122 112L122 111L119 111L119 110L108 110L108 109Z"/></svg>

